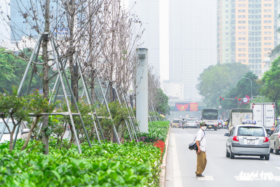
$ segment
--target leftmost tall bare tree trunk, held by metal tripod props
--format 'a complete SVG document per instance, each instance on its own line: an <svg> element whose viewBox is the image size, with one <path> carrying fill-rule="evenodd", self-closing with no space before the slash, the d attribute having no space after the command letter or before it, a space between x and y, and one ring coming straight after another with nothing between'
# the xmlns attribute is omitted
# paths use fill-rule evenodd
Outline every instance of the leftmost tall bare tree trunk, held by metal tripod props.
<svg viewBox="0 0 280 187"><path fill-rule="evenodd" d="M50 0L46 0L45 4L45 33L49 33L50 28L50 15L49 15L49 8L50 8ZM48 65L48 41L49 41L49 35L45 34L43 35L43 93L44 98L49 98L49 65ZM43 144L45 150L43 153L45 155L49 154L49 136L46 135L47 127L49 126L49 116L43 117Z"/></svg>

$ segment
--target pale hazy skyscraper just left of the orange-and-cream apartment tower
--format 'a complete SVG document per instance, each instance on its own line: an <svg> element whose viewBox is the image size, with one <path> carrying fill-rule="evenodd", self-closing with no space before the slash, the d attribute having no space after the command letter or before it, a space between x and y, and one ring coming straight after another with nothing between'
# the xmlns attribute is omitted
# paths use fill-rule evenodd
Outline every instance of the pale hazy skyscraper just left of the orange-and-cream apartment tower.
<svg viewBox="0 0 280 187"><path fill-rule="evenodd" d="M215 0L169 0L169 79L182 80L184 99L199 99L197 78L217 63Z"/></svg>

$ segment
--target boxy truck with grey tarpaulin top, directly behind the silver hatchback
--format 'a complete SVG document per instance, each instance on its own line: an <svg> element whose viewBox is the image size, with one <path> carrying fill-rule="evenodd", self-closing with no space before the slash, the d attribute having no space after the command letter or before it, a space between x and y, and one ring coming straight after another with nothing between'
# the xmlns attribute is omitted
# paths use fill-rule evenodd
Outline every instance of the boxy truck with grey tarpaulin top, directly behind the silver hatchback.
<svg viewBox="0 0 280 187"><path fill-rule="evenodd" d="M253 110L245 108L231 109L228 122L229 133L233 125L242 124L242 120L253 120Z"/></svg>

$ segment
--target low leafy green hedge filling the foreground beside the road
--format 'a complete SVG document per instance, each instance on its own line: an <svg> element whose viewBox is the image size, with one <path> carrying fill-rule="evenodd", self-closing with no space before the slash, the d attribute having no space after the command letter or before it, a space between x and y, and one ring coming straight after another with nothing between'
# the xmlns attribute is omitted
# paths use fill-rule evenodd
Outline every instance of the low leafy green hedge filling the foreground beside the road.
<svg viewBox="0 0 280 187"><path fill-rule="evenodd" d="M153 145L125 142L93 143L68 150L50 147L43 155L41 143L30 143L20 152L17 141L9 152L8 143L0 145L0 186L158 186L161 151ZM50 145L55 145L55 140Z"/></svg>

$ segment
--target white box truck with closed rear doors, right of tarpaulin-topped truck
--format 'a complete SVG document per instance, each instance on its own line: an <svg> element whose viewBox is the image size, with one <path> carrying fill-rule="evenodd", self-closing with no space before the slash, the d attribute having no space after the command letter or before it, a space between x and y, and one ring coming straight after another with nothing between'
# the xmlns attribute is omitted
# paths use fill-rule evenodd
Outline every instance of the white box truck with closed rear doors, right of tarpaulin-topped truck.
<svg viewBox="0 0 280 187"><path fill-rule="evenodd" d="M256 125L262 125L266 131L274 130L275 128L275 103L251 103L253 110L253 120Z"/></svg>

